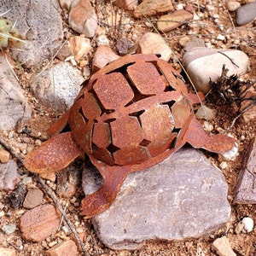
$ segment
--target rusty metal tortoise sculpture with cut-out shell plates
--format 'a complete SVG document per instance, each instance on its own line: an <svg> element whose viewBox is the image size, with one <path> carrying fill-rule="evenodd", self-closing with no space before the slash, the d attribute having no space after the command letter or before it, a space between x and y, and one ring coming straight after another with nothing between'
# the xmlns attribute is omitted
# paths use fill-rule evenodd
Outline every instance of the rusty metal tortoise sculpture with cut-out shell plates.
<svg viewBox="0 0 256 256"><path fill-rule="evenodd" d="M154 166L185 143L221 153L234 139L208 135L189 93L171 64L156 55L126 55L94 73L73 107L49 128L53 136L26 155L32 172L57 172L87 154L104 183L82 201L88 218L105 211L129 172ZM70 131L60 133L69 125ZM56 135L58 134L58 135Z"/></svg>

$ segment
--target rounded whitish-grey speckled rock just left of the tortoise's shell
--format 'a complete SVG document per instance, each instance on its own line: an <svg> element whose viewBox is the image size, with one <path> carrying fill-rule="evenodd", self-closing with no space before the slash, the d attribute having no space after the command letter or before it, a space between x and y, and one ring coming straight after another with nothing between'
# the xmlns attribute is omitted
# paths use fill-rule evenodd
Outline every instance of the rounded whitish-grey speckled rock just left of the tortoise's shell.
<svg viewBox="0 0 256 256"><path fill-rule="evenodd" d="M82 73L68 62L56 64L31 80L31 90L46 107L66 112L84 82Z"/></svg>

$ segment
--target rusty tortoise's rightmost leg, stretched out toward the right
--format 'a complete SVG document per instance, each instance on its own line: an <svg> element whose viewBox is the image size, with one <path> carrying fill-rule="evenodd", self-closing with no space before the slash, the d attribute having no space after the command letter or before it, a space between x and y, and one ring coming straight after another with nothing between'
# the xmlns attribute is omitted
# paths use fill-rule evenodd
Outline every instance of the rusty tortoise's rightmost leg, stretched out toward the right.
<svg viewBox="0 0 256 256"><path fill-rule="evenodd" d="M194 148L205 148L213 153L224 153L235 146L235 139L222 134L207 134L194 116L176 147L181 148L185 143L189 143Z"/></svg>

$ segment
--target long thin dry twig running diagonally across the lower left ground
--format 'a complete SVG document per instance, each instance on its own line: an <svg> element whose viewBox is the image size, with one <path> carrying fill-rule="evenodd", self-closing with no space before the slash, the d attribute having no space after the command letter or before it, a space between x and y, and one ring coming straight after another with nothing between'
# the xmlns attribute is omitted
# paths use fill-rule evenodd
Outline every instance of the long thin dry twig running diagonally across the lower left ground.
<svg viewBox="0 0 256 256"><path fill-rule="evenodd" d="M20 163L23 165L24 160L20 157L20 154L15 152L15 150L9 145L9 143L7 143L1 136L0 136L0 144L2 144L3 147L6 148L10 154L15 156L15 158L19 160ZM47 195L49 195L49 198L54 202L55 207L57 207L58 210L61 212L63 218L67 222L69 229L73 232L73 235L75 236L76 240L79 242L79 246L82 248L84 255L89 255L88 253L86 253L84 243L80 240L80 237L77 231L75 230L75 228L73 227L73 224L70 222L69 218L67 217L66 212L61 207L61 204L59 203L59 201L57 201L53 191L44 183L43 179L39 177L38 174L32 173L32 176L35 177L38 183L42 185L42 187L44 188L44 191L47 193Z"/></svg>

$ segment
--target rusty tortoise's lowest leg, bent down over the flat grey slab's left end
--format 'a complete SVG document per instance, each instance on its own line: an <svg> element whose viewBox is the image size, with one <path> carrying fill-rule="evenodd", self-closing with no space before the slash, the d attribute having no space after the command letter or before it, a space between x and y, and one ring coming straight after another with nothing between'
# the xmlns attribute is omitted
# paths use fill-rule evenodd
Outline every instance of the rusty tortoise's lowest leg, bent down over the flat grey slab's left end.
<svg viewBox="0 0 256 256"><path fill-rule="evenodd" d="M86 215L86 218L104 212L111 206L129 173L125 166L108 166L92 156L90 156L90 160L101 172L104 183L100 189L91 195L87 195L81 202L80 214Z"/></svg>

